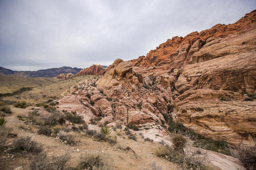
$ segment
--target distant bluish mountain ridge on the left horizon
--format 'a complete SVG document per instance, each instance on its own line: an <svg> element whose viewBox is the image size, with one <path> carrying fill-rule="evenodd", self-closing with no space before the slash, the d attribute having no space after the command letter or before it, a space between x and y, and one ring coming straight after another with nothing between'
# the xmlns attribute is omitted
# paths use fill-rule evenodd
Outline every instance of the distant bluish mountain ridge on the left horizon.
<svg viewBox="0 0 256 170"><path fill-rule="evenodd" d="M82 69L77 67L59 67L59 68L51 68L51 69L44 69L44 70L37 70L37 71L13 71L10 69L6 69L4 67L0 67L0 74L2 75L16 75L22 77L55 77L61 73L72 73L77 74Z"/></svg>

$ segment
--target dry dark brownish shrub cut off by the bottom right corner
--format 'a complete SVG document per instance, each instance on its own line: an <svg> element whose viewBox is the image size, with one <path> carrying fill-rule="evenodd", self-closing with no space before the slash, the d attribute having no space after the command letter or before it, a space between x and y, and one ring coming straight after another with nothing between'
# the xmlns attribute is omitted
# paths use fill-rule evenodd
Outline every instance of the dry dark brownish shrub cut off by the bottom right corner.
<svg viewBox="0 0 256 170"><path fill-rule="evenodd" d="M256 169L256 147L240 146L232 150L232 156L238 158L246 169Z"/></svg>

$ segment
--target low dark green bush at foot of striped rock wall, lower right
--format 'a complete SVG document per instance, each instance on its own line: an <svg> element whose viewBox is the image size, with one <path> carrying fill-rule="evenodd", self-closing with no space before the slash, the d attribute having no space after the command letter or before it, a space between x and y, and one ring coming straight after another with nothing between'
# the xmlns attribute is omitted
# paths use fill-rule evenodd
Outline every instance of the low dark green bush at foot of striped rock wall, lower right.
<svg viewBox="0 0 256 170"><path fill-rule="evenodd" d="M196 141L193 143L193 146L195 147L203 147L207 150L220 152L221 154L225 155L231 155L228 143L225 141L214 141L213 139L196 139Z"/></svg>

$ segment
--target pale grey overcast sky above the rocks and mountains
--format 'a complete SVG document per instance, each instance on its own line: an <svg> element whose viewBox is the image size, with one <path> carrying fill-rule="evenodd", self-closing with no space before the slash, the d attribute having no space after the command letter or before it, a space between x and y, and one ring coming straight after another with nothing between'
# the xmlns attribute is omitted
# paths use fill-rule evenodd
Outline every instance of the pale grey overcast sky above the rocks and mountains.
<svg viewBox="0 0 256 170"><path fill-rule="evenodd" d="M174 36L234 23L255 8L255 0L0 0L0 66L110 65L146 56Z"/></svg>

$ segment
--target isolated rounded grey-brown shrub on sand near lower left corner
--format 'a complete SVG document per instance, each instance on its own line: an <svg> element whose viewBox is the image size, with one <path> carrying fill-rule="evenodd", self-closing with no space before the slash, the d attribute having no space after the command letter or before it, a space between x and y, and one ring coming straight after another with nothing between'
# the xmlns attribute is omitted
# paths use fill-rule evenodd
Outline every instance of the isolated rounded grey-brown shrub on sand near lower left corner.
<svg viewBox="0 0 256 170"><path fill-rule="evenodd" d="M24 150L34 154L38 154L43 150L42 146L39 145L38 142L31 141L31 137L22 137L14 140L13 147L14 150Z"/></svg>

